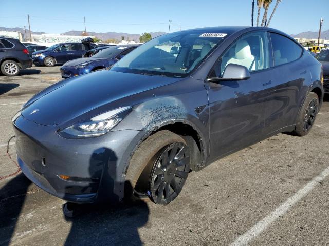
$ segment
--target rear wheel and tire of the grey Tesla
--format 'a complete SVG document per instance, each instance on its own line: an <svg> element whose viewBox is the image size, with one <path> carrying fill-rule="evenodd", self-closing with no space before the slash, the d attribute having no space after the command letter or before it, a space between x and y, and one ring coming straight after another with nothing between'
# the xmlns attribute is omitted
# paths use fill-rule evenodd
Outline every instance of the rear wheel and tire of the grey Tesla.
<svg viewBox="0 0 329 246"><path fill-rule="evenodd" d="M306 99L297 117L294 131L296 136L305 136L309 133L310 129L312 129L312 126L314 125L318 110L318 95L314 92L310 92L306 96Z"/></svg>

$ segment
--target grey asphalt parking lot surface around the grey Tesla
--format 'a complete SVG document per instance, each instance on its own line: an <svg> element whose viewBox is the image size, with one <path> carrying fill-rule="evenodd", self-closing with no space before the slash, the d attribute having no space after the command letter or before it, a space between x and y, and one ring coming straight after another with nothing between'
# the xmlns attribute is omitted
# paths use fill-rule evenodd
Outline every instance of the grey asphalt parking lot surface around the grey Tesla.
<svg viewBox="0 0 329 246"><path fill-rule="evenodd" d="M0 176L16 171L6 155L11 117L61 80L59 69L0 75ZM326 97L307 136L279 134L191 172L169 206L90 208L67 219L64 201L23 174L0 180L0 245L327 245L328 122Z"/></svg>

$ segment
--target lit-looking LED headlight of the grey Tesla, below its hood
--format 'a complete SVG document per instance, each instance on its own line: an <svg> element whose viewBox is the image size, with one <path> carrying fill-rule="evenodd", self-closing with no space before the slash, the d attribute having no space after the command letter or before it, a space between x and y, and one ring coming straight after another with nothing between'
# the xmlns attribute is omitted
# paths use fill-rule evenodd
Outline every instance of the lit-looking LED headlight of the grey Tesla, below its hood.
<svg viewBox="0 0 329 246"><path fill-rule="evenodd" d="M67 127L58 134L69 139L100 136L114 128L131 110L132 107L117 108Z"/></svg>

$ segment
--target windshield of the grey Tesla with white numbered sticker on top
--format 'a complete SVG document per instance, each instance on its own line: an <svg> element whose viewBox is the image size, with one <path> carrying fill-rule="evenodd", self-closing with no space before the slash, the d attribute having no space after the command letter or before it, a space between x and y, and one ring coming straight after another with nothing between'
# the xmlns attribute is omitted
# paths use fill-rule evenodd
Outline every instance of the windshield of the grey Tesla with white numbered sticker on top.
<svg viewBox="0 0 329 246"><path fill-rule="evenodd" d="M127 54L113 70L181 77L190 73L225 35L199 30L162 35Z"/></svg>

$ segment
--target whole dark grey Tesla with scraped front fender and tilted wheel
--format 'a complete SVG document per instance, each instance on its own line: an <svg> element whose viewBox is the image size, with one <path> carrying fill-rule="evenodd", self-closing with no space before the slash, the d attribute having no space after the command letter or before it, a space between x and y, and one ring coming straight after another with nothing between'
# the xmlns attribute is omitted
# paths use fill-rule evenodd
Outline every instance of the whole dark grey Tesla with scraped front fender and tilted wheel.
<svg viewBox="0 0 329 246"><path fill-rule="evenodd" d="M319 61L275 29L162 35L111 68L27 101L12 119L17 160L36 185L67 201L143 196L169 204L190 170L281 132L308 134L321 81Z"/></svg>

